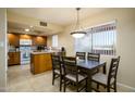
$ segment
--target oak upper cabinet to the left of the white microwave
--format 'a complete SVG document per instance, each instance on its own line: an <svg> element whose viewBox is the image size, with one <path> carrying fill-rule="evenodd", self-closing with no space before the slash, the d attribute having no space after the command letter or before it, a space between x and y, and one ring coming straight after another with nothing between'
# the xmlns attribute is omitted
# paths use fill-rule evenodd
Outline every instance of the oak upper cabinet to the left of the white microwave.
<svg viewBox="0 0 135 101"><path fill-rule="evenodd" d="M8 34L9 45L19 47L20 46L20 36L15 34Z"/></svg>

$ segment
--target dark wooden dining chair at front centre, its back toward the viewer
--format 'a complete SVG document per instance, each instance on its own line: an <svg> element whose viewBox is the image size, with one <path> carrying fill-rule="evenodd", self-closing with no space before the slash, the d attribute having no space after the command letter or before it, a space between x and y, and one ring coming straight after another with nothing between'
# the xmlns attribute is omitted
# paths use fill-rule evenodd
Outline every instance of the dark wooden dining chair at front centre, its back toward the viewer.
<svg viewBox="0 0 135 101"><path fill-rule="evenodd" d="M64 92L65 92L66 86L70 84L73 84L76 87L77 92L86 88L87 76L79 74L79 70L76 66L76 58L64 56L63 64L64 64ZM79 88L78 86L84 81L85 81L85 85L82 88Z"/></svg>

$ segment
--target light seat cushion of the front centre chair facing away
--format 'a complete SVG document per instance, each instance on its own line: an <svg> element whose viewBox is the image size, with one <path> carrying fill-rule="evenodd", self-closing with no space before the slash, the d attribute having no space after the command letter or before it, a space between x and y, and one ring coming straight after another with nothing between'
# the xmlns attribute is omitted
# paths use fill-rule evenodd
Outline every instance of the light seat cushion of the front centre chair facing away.
<svg viewBox="0 0 135 101"><path fill-rule="evenodd" d="M78 74L78 81L86 79L86 77L87 77L86 75ZM74 75L74 74L68 74L68 75L65 75L65 78L76 81L76 75Z"/></svg>

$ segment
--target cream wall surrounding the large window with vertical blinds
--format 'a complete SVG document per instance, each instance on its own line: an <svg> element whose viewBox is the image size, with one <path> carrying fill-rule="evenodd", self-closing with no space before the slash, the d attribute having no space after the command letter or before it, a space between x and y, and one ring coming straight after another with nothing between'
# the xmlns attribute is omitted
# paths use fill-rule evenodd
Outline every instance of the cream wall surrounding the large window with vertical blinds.
<svg viewBox="0 0 135 101"><path fill-rule="evenodd" d="M90 12L89 12L90 13ZM118 74L118 86L121 91L135 91L135 9L109 9L82 21L82 26L88 28L111 21L116 21L116 54L121 55ZM59 46L66 49L68 55L74 55L74 39L70 35L74 25L59 34ZM51 40L48 40L51 41ZM108 65L111 56L101 56Z"/></svg>

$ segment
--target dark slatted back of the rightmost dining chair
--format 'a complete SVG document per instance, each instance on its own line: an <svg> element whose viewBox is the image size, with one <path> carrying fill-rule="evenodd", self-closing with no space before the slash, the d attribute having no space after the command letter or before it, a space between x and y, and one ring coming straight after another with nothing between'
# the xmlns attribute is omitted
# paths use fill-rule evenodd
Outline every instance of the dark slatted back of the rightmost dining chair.
<svg viewBox="0 0 135 101"><path fill-rule="evenodd" d="M120 56L111 60L110 70L108 74L108 85L110 85L113 81L116 81L119 62L120 62Z"/></svg>

